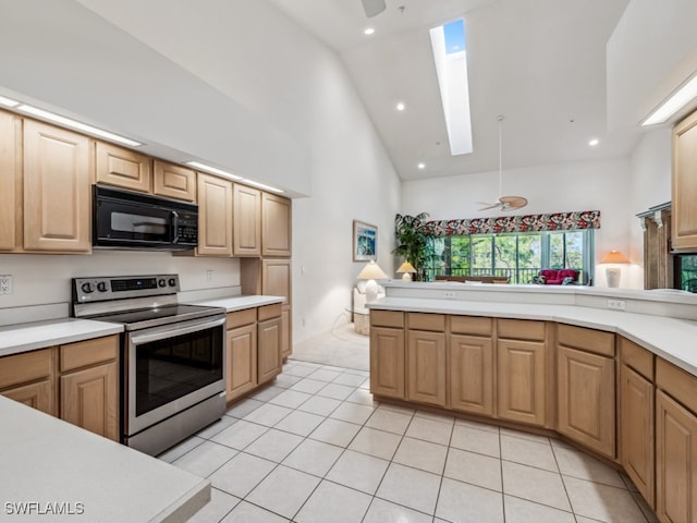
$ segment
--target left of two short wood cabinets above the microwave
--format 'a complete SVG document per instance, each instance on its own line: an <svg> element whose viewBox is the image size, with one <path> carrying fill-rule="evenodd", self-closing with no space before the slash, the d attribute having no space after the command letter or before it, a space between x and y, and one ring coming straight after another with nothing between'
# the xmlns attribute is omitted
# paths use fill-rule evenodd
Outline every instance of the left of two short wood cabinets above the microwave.
<svg viewBox="0 0 697 523"><path fill-rule="evenodd" d="M152 159L131 149L97 142L97 182L149 193L152 191Z"/></svg>

